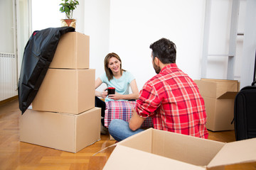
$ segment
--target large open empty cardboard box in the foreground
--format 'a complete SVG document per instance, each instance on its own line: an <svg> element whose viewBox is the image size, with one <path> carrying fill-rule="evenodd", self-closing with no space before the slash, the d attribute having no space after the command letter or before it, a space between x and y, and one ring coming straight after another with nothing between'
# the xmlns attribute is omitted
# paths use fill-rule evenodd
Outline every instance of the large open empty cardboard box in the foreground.
<svg viewBox="0 0 256 170"><path fill-rule="evenodd" d="M105 170L224 169L256 161L256 138L216 142L150 128L117 143Z"/></svg>

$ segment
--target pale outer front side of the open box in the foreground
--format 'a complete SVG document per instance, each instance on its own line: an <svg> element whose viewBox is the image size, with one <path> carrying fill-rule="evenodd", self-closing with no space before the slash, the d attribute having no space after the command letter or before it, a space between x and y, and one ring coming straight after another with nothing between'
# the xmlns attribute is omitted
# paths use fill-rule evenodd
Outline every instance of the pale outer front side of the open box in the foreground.
<svg viewBox="0 0 256 170"><path fill-rule="evenodd" d="M134 157L136 155L136 157ZM155 170L155 169L179 169L179 170L203 170L204 167L194 166L183 162L178 162L174 159L168 159L156 154L149 154L138 149L117 145L110 158L105 164L104 170L115 169L140 169L140 170Z"/></svg>

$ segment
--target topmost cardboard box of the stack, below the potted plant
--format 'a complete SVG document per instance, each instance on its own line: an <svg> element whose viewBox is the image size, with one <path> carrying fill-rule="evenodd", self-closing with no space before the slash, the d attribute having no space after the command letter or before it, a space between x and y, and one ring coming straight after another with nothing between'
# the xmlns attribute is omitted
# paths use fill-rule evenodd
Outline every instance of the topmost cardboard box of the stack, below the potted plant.
<svg viewBox="0 0 256 170"><path fill-rule="evenodd" d="M90 37L78 32L61 35L50 68L89 69Z"/></svg>

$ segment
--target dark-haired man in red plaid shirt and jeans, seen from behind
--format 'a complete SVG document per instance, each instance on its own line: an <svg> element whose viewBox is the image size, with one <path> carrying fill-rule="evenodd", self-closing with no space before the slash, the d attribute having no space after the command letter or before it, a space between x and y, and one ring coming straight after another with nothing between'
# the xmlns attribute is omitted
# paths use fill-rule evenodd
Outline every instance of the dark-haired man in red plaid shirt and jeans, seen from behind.
<svg viewBox="0 0 256 170"><path fill-rule="evenodd" d="M150 45L156 76L144 84L129 123L112 120L110 135L120 141L141 132L151 116L155 129L208 138L206 110L196 83L178 69L176 45L161 38Z"/></svg>

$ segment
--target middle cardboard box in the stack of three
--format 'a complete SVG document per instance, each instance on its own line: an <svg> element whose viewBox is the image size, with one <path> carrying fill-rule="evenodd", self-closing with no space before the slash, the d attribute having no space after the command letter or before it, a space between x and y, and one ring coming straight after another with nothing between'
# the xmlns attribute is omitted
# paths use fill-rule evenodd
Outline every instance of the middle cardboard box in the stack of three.
<svg viewBox="0 0 256 170"><path fill-rule="evenodd" d="M79 114L95 107L95 69L48 69L33 110Z"/></svg>

